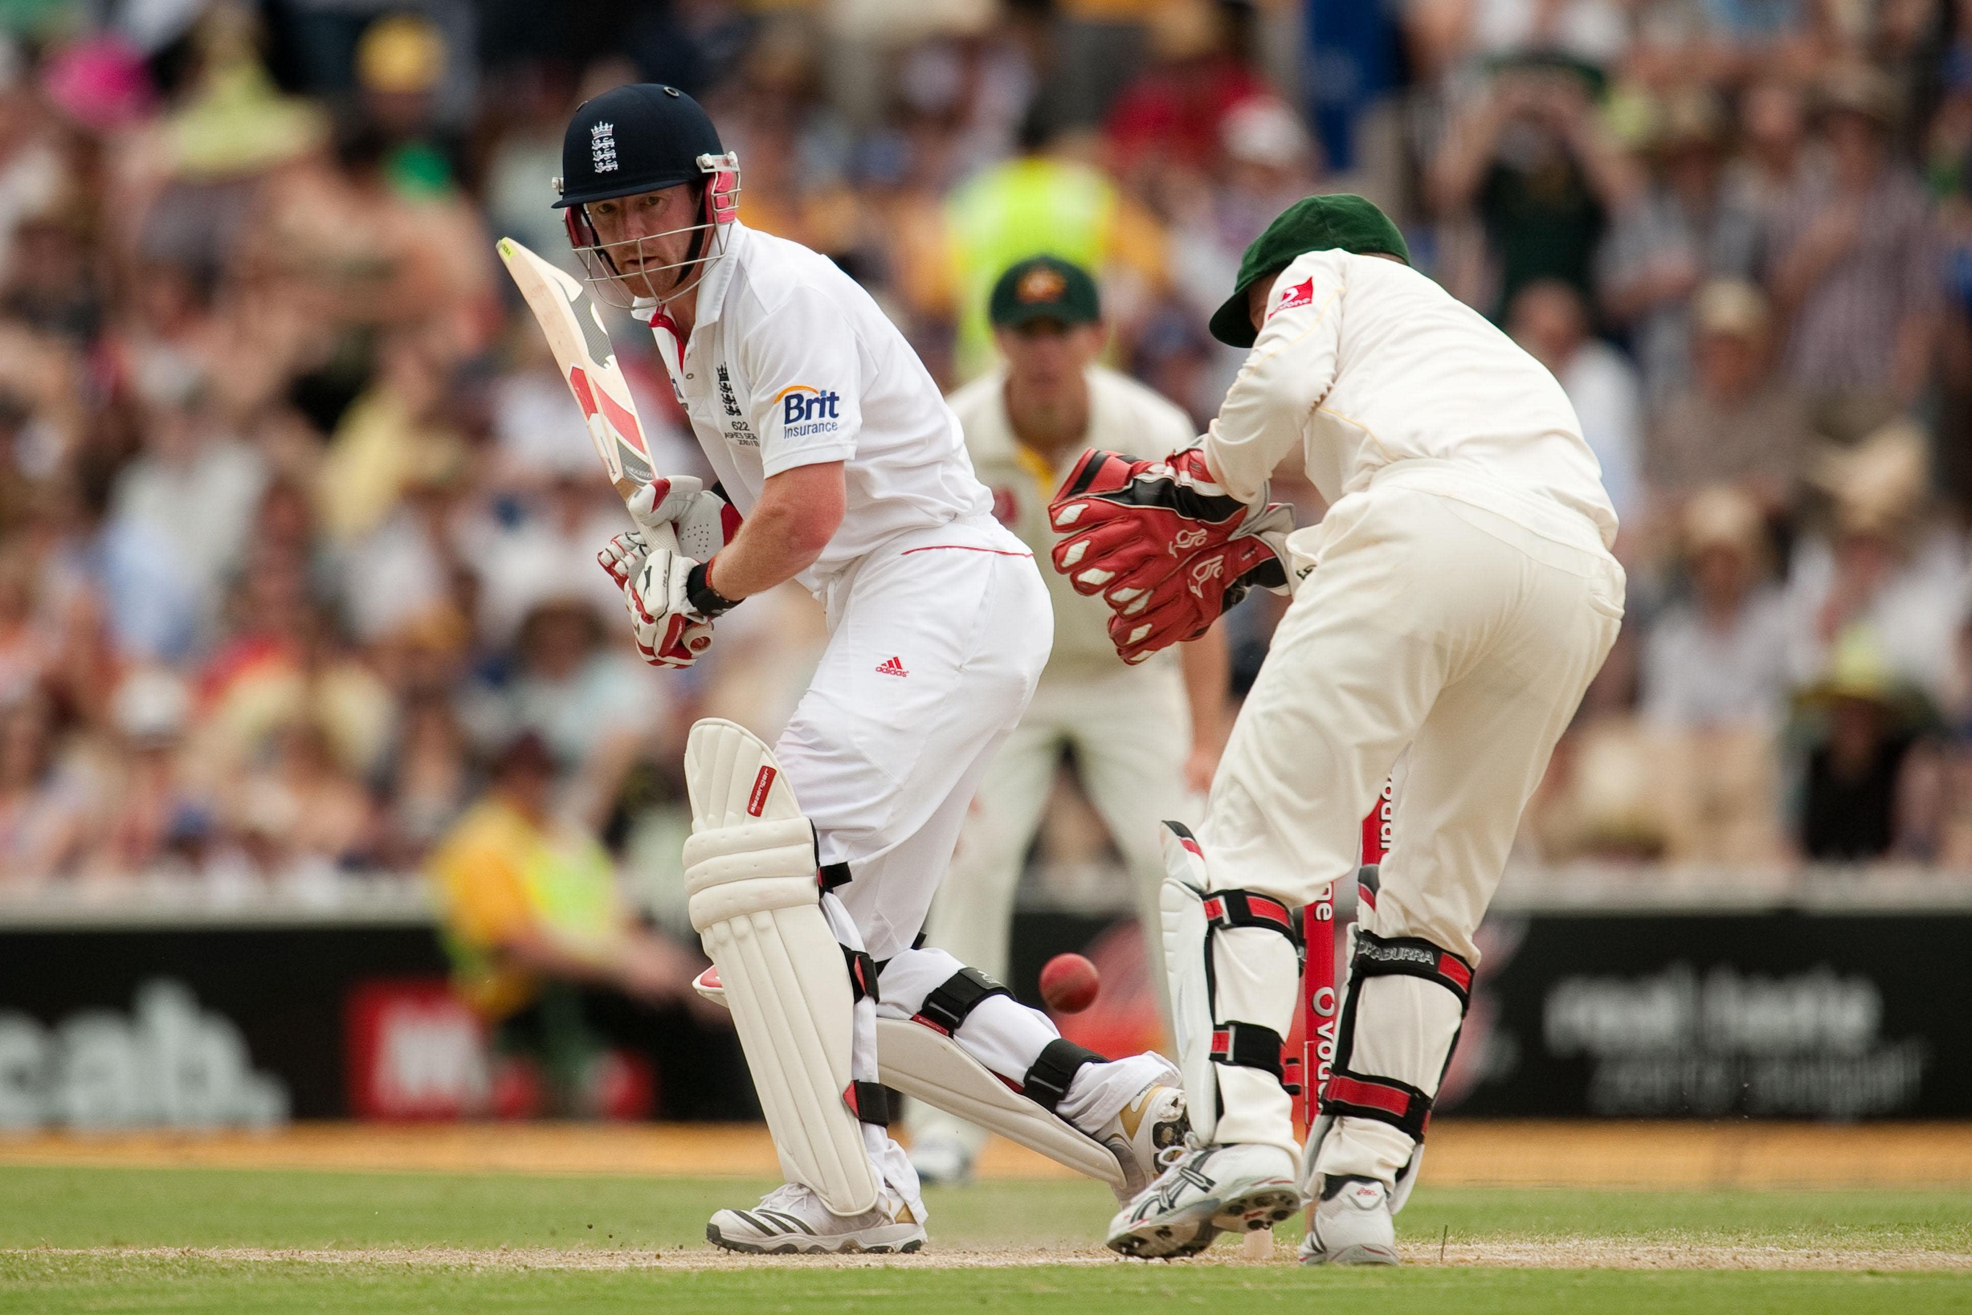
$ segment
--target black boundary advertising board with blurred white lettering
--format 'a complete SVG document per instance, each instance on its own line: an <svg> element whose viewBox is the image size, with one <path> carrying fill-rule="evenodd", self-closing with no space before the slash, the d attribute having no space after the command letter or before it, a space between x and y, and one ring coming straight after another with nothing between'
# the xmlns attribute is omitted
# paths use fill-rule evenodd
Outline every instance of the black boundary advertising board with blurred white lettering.
<svg viewBox="0 0 1972 1315"><path fill-rule="evenodd" d="M1033 1002L1041 962L1112 925L1020 913L1008 986ZM1503 901L1481 929L1440 1110L1972 1118L1972 1015L1946 990L1968 938L1972 907L1944 899L1694 911L1656 897L1625 909ZM0 1126L349 1116L351 1002L390 982L430 990L444 972L422 917L0 917ZM611 1043L651 1059L665 1116L751 1116L730 1033L617 998L586 1007ZM116 1106L118 1082L140 1098Z"/></svg>

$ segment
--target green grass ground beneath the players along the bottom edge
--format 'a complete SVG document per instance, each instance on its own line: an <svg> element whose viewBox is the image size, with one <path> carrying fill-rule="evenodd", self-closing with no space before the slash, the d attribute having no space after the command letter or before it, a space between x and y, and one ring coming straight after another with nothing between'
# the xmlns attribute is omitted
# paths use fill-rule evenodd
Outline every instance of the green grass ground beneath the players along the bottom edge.
<svg viewBox="0 0 1972 1315"><path fill-rule="evenodd" d="M751 1179L0 1167L0 1311L1514 1311L1972 1309L1972 1191L1422 1189L1410 1266L1116 1262L1087 1183L927 1197L921 1256L738 1260L704 1246ZM1440 1262L1440 1250L1444 1262ZM1560 1268L1556 1268L1560 1266ZM1716 1268L1686 1268L1716 1266Z"/></svg>

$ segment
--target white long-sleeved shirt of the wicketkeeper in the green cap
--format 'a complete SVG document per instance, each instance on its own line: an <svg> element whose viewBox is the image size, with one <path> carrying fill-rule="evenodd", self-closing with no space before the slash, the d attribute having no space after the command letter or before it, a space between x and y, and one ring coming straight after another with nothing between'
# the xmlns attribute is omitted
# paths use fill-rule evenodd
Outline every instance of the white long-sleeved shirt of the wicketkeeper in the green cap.
<svg viewBox="0 0 1972 1315"><path fill-rule="evenodd" d="M1311 250L1286 268L1205 455L1252 501L1296 448L1333 507L1410 459L1467 465L1587 517L1615 509L1554 375L1406 264Z"/></svg>

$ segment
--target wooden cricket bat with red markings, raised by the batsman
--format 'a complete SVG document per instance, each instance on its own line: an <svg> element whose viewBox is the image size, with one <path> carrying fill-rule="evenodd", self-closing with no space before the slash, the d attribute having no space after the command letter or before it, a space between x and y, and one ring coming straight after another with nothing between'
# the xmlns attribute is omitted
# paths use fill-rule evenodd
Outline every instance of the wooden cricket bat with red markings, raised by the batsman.
<svg viewBox="0 0 1972 1315"><path fill-rule="evenodd" d="M617 369L615 347L603 317L584 292L582 282L558 270L511 237L499 241L499 258L507 264L527 308L540 321L562 382L576 394L582 420L590 426L596 455L609 471L609 483L629 497L657 477L651 465L651 444L645 442L637 402L631 400L623 371ZM678 540L669 524L643 532L653 548L676 552Z"/></svg>

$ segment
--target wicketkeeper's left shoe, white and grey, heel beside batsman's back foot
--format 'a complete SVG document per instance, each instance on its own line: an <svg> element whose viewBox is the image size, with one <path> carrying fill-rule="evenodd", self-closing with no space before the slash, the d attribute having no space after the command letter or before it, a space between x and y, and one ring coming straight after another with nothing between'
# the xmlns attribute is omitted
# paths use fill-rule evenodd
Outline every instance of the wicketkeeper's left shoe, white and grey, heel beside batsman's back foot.
<svg viewBox="0 0 1972 1315"><path fill-rule="evenodd" d="M1108 1248L1146 1260L1195 1256L1223 1230L1272 1228L1302 1209L1294 1155L1238 1142L1185 1151L1110 1220Z"/></svg>

